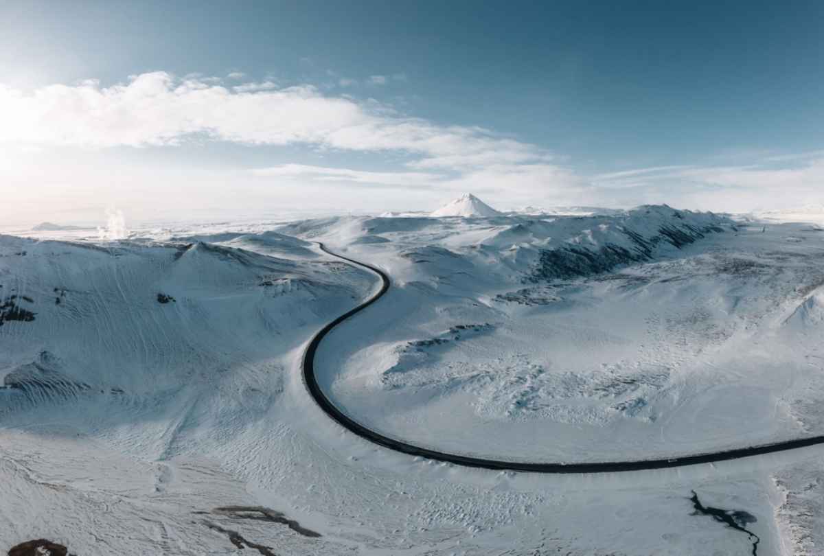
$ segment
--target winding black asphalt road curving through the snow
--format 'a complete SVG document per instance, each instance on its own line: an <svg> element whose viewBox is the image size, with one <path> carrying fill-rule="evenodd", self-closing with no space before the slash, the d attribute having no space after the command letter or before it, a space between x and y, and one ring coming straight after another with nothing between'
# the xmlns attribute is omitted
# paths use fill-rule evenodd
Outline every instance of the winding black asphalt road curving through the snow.
<svg viewBox="0 0 824 556"><path fill-rule="evenodd" d="M706 463L714 463L716 461L737 460L739 458L761 456L764 454L773 454L780 451L795 450L807 446L815 446L817 444L824 444L824 436L798 438L795 440L788 440L784 442L774 442L771 444L761 444L758 446L747 446L743 448L733 448L732 450L704 452L686 456L673 456L667 459L658 460L629 460L629 461L596 461L596 462L580 462L580 463L562 463L562 462L526 462L526 461L507 461L507 460L489 460L486 458L461 456L461 454L450 454L448 452L431 450L421 446L415 446L409 442L403 442L382 435L380 432L364 426L361 423L349 418L340 409L335 407L328 397L321 390L315 377L315 354L321 341L329 334L335 326L349 319L350 316L363 311L375 301L380 299L390 287L389 276L381 269L377 269L371 264L362 263L358 260L349 259L343 255L338 255L328 249L322 243L317 244L325 253L343 259L350 264L354 264L364 269L371 270L381 278L381 288L366 301L354 307L351 311L347 311L340 315L335 320L332 320L328 325L325 325L320 331L315 334L309 345L306 353L303 354L303 380L307 385L307 390L316 403L323 409L323 411L331 418L335 419L344 428L350 432L354 432L358 437L365 438L369 442L374 442L377 445L384 446L390 450L400 451L410 456L420 456L429 460L446 461L454 465L463 465L466 467L477 467L487 470L511 470L524 471L528 473L550 473L550 474L569 474L569 473L616 473L619 471L642 471L642 470L660 470L671 467L684 467L686 465L699 465Z"/></svg>

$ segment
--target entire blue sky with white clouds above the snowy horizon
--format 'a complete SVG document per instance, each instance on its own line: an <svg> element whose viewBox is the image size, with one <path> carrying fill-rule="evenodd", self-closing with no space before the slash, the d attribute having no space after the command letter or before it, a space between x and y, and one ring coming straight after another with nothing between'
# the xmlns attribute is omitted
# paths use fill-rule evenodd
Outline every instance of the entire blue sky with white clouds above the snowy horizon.
<svg viewBox="0 0 824 556"><path fill-rule="evenodd" d="M822 203L824 4L757 4L4 2L0 187L26 219Z"/></svg>

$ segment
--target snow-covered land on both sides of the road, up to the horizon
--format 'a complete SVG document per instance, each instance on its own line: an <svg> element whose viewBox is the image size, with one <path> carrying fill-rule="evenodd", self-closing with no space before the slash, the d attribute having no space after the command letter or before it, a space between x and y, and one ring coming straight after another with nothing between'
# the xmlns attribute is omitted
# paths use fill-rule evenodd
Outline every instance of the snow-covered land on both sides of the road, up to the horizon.
<svg viewBox="0 0 824 556"><path fill-rule="evenodd" d="M585 461L822 432L817 227L560 212L0 236L0 550L822 554L824 448L516 474L386 451L316 407L302 349L377 287L323 241L392 278L316 361L388 436Z"/></svg>

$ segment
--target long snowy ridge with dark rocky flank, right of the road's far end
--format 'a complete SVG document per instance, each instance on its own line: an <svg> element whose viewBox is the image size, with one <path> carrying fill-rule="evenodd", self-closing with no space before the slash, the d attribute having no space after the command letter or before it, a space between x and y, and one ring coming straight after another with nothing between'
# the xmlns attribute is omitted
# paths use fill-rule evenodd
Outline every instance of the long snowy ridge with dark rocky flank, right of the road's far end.
<svg viewBox="0 0 824 556"><path fill-rule="evenodd" d="M593 216L331 217L293 222L278 231L330 245L384 245L379 252L424 265L423 274L413 269L409 279L460 274L470 287L602 273L677 254L708 234L736 228L724 215L645 205Z"/></svg>

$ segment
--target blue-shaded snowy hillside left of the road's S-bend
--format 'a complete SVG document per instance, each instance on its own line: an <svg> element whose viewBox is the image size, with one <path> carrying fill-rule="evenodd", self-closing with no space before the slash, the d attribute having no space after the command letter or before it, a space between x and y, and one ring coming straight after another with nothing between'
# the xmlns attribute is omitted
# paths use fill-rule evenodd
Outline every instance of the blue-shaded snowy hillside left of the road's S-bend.
<svg viewBox="0 0 824 556"><path fill-rule="evenodd" d="M272 237L258 237L269 251ZM343 264L200 241L0 236L0 415L25 422L43 403L82 400L128 419L134 404L187 397L198 384L212 398L272 395L283 380L272 358L367 284ZM157 453L175 449L173 438L155 442Z"/></svg>

